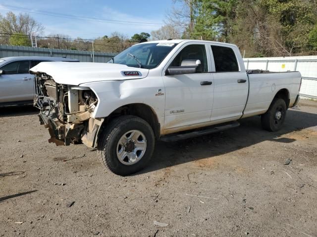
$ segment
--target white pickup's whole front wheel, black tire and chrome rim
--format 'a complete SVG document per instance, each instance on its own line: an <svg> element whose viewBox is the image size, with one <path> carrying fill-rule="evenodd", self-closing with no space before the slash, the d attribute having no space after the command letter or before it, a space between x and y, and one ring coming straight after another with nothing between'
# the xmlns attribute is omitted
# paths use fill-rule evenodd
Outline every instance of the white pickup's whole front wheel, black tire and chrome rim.
<svg viewBox="0 0 317 237"><path fill-rule="evenodd" d="M129 175L143 169L155 145L152 127L135 116L114 118L101 134L98 157L113 173Z"/></svg>

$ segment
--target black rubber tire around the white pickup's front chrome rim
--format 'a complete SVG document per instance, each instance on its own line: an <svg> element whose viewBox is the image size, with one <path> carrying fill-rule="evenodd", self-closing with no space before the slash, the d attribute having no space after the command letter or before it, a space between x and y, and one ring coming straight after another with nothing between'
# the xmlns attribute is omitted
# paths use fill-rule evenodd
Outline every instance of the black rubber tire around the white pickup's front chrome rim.
<svg viewBox="0 0 317 237"><path fill-rule="evenodd" d="M117 157L120 138L131 130L141 131L146 139L146 149L143 156L133 164L124 164ZM134 144L133 144L134 145ZM155 136L152 127L142 118L136 116L121 116L114 118L106 125L98 141L98 157L113 173L129 175L143 169L153 155ZM122 147L122 149L125 149ZM125 150L124 150L125 152Z"/></svg>

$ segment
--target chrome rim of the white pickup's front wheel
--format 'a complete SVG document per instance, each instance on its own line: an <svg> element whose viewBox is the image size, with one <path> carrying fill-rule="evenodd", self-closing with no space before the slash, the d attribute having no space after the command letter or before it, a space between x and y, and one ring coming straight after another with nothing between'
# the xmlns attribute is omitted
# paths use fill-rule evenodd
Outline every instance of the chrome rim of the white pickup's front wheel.
<svg viewBox="0 0 317 237"><path fill-rule="evenodd" d="M137 163L145 154L147 140L139 130L130 130L123 134L117 144L117 158L125 165Z"/></svg>

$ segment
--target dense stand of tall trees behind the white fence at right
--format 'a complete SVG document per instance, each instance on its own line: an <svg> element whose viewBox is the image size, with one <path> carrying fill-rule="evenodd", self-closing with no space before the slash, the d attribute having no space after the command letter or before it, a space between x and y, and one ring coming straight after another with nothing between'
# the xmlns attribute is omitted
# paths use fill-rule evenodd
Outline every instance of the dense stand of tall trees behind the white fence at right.
<svg viewBox="0 0 317 237"><path fill-rule="evenodd" d="M173 0L167 23L183 39L232 42L248 56L303 55L317 49L316 0Z"/></svg>

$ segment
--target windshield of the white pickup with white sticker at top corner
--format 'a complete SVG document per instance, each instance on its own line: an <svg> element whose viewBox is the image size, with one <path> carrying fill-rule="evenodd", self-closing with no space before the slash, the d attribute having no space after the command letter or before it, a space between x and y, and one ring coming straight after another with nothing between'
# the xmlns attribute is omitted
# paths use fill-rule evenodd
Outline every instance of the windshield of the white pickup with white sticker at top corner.
<svg viewBox="0 0 317 237"><path fill-rule="evenodd" d="M135 68L156 68L176 43L142 43L129 47L108 63L124 64Z"/></svg>

